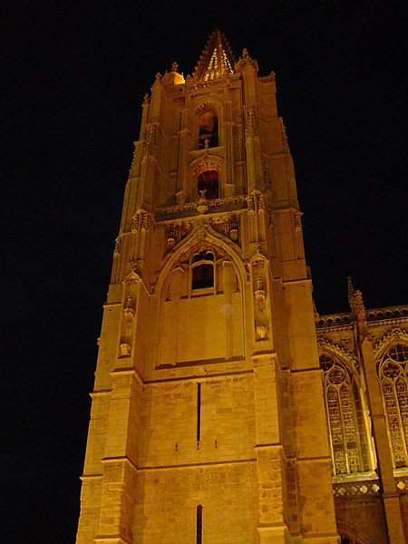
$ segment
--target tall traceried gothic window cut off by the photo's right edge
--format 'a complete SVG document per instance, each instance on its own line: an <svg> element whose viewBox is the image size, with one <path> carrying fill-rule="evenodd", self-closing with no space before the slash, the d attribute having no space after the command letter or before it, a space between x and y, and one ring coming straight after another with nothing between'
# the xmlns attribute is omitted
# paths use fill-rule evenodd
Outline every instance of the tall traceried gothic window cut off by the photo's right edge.
<svg viewBox="0 0 408 544"><path fill-rule="evenodd" d="M388 435L395 468L408 465L408 345L388 348L379 365Z"/></svg>

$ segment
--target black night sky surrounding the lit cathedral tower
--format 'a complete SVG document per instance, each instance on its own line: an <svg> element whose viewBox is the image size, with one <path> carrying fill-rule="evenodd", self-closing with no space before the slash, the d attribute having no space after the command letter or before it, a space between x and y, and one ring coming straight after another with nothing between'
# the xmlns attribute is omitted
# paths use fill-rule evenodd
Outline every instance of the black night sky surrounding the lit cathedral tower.
<svg viewBox="0 0 408 544"><path fill-rule="evenodd" d="M9 3L10 4L10 3ZM26 2L1 15L2 541L70 544L141 101L218 24L277 73L318 310L408 302L406 1Z"/></svg>

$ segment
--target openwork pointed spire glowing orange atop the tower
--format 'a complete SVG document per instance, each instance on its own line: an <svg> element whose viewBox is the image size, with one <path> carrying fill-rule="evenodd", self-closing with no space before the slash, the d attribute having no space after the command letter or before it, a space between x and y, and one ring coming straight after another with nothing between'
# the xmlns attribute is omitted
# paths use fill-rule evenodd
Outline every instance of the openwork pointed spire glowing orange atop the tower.
<svg viewBox="0 0 408 544"><path fill-rule="evenodd" d="M199 82L210 82L227 73L234 73L234 54L227 38L217 28L209 36L206 48L202 52L196 66L194 77Z"/></svg>

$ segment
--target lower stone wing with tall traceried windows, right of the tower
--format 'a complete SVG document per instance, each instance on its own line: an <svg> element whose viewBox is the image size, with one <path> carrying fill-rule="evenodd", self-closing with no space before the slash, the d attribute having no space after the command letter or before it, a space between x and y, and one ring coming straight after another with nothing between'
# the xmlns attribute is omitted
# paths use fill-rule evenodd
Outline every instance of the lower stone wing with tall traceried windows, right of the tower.
<svg viewBox="0 0 408 544"><path fill-rule="evenodd" d="M361 544L408 533L408 305L316 315L339 533ZM405 538L405 539L404 539Z"/></svg>

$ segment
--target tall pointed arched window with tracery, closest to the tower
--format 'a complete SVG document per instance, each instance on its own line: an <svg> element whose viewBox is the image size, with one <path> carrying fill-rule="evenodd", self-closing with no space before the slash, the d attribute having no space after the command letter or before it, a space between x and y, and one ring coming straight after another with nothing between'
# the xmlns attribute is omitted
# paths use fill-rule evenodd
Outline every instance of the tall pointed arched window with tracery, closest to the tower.
<svg viewBox="0 0 408 544"><path fill-rule="evenodd" d="M329 354L321 355L325 371L325 407L335 474L369 471L371 467L364 407L355 376Z"/></svg>

